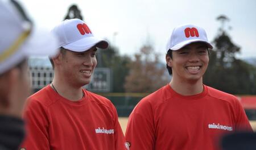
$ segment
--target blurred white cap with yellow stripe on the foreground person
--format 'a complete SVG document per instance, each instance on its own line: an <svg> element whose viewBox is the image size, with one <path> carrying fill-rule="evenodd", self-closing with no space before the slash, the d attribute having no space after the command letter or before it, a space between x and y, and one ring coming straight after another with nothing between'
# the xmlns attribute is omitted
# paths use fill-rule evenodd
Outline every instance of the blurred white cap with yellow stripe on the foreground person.
<svg viewBox="0 0 256 150"><path fill-rule="evenodd" d="M57 38L49 31L32 28L18 2L0 0L0 74L28 56L53 56Z"/></svg>

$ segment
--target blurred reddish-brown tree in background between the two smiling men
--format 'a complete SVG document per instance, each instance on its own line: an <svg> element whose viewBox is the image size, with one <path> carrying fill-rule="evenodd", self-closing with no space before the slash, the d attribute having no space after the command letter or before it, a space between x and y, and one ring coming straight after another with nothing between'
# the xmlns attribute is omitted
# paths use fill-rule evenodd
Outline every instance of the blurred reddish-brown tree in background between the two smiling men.
<svg viewBox="0 0 256 150"><path fill-rule="evenodd" d="M167 70L159 62L159 55L150 44L143 45L134 56L135 60L129 65L130 73L125 82L127 92L151 93L166 85Z"/></svg>

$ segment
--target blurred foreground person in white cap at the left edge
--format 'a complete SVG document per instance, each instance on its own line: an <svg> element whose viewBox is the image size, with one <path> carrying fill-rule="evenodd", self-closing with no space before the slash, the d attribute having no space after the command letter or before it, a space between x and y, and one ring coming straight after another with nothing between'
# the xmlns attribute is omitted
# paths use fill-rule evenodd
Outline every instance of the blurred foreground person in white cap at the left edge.
<svg viewBox="0 0 256 150"><path fill-rule="evenodd" d="M18 149L25 135L23 105L30 94L28 56L55 55L57 40L49 32L35 32L16 1L0 1L0 20L0 149Z"/></svg>

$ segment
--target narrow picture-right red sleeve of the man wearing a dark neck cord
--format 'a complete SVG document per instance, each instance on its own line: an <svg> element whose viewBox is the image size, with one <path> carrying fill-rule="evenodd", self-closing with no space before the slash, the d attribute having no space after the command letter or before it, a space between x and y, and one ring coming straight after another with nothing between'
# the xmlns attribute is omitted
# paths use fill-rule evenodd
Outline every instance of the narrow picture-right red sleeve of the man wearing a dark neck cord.
<svg viewBox="0 0 256 150"><path fill-rule="evenodd" d="M113 105L112 105L112 107L113 107L113 113L114 113L115 149L116 150L119 150L119 149L127 150L127 148L125 147L125 136L123 135L122 128L118 122L117 110L115 109L115 107Z"/></svg>

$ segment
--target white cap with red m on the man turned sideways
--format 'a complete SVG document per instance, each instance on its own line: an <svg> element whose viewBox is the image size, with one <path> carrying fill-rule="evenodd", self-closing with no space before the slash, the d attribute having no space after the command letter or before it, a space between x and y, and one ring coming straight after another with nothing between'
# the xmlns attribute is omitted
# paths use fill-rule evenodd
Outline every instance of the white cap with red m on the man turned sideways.
<svg viewBox="0 0 256 150"><path fill-rule="evenodd" d="M109 46L108 41L96 38L88 24L80 19L67 19L55 26L52 32L59 38L59 46L75 52L83 52L94 45L101 49Z"/></svg>

